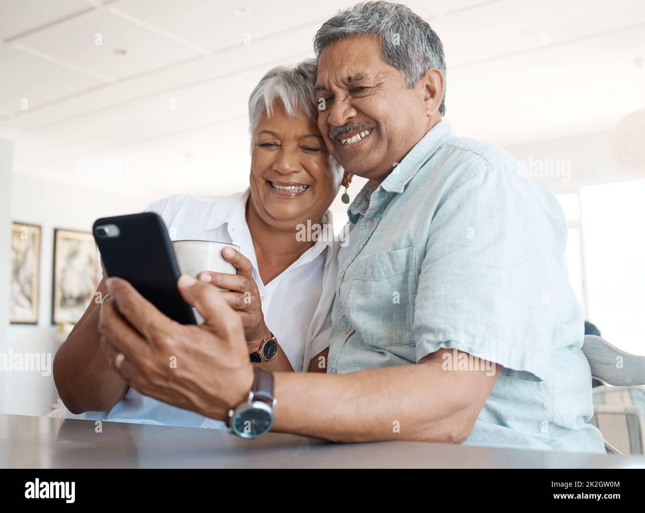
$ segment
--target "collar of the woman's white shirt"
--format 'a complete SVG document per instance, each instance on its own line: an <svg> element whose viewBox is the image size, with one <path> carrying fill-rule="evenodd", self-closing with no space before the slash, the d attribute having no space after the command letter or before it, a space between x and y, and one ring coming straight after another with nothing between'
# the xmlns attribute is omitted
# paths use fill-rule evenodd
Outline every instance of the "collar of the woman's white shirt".
<svg viewBox="0 0 645 513"><path fill-rule="evenodd" d="M208 221L206 222L206 230L214 230L215 228L219 228L224 225L224 223L227 223L226 228L228 230L228 234L231 236L231 239L235 244L235 237L233 237L231 228L244 226L244 229L248 232L248 225L246 225L246 201L250 194L251 189L248 187L244 192L238 192L237 194L231 194L230 196L218 197L210 210ZM330 210L327 210L323 215L323 226L332 227L331 229L333 232L333 216ZM323 230L323 234L328 234L328 230ZM329 248L325 256L325 265L328 265L333 257L334 238L335 237L320 237L311 248L301 255L301 258L304 257L306 261L312 261L315 257L319 256L325 248Z"/></svg>

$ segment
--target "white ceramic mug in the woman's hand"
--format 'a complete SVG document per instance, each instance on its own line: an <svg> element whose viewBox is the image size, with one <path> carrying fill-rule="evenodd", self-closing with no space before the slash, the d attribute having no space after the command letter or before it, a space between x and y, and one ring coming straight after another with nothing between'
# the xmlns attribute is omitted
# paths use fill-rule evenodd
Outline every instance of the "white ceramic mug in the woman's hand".
<svg viewBox="0 0 645 513"><path fill-rule="evenodd" d="M172 248L175 250L175 257L181 274L188 274L194 278L197 278L203 271L237 274L237 268L222 256L222 250L226 246L237 251L240 250L239 246L223 242L172 241ZM219 290L226 289L219 288Z"/></svg>

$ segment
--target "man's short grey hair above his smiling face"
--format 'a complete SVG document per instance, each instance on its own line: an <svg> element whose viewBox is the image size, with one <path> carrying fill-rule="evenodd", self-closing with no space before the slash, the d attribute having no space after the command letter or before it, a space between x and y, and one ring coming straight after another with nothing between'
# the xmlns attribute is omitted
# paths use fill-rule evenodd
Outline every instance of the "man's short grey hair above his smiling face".
<svg viewBox="0 0 645 513"><path fill-rule="evenodd" d="M437 33L412 9L390 2L364 2L342 10L328 19L313 37L313 49L320 57L323 48L342 37L374 35L381 41L381 55L403 75L412 88L430 68L446 77L446 59ZM439 112L446 114L446 91Z"/></svg>

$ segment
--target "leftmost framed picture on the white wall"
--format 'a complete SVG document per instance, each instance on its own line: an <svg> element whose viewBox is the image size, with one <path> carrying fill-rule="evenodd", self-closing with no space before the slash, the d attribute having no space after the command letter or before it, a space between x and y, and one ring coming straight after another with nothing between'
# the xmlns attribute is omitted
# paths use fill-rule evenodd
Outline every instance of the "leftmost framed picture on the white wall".
<svg viewBox="0 0 645 513"><path fill-rule="evenodd" d="M38 323L41 227L12 223L9 321Z"/></svg>

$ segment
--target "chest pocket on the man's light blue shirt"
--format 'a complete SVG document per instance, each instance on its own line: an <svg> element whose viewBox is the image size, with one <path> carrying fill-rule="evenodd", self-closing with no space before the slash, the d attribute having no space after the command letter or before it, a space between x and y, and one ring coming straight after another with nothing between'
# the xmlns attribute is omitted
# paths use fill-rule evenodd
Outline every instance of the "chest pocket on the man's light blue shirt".
<svg viewBox="0 0 645 513"><path fill-rule="evenodd" d="M377 348L413 343L415 248L373 254L353 266L344 310L364 343Z"/></svg>

